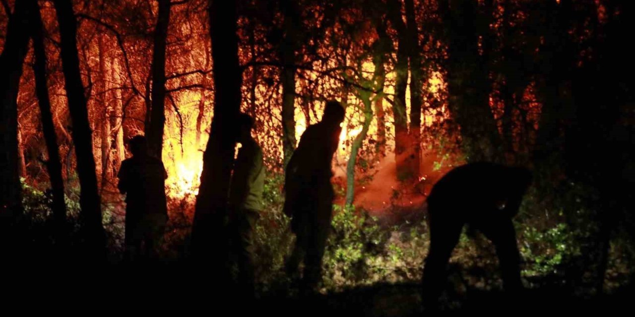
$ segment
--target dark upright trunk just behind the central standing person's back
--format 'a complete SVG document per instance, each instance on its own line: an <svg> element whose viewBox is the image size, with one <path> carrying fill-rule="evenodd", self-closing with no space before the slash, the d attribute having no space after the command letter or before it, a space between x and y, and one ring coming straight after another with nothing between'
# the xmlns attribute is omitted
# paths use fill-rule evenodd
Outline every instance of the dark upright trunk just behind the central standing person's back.
<svg viewBox="0 0 635 317"><path fill-rule="evenodd" d="M297 47L297 10L291 0L281 1L284 39L280 49L282 82L282 130L284 167L295 150L295 49Z"/></svg>

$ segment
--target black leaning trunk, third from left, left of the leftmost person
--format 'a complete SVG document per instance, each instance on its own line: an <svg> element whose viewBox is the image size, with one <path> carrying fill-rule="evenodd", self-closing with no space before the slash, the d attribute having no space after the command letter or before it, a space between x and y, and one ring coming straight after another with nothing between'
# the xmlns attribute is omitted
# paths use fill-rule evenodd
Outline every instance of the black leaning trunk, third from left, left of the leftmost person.
<svg viewBox="0 0 635 317"><path fill-rule="evenodd" d="M105 256L105 234L102 226L100 197L97 191L92 131L88 122L88 108L86 107L86 96L84 95L84 85L81 81L77 55L77 22L70 0L58 0L54 4L60 25L64 86L73 124L72 138L81 186L79 206L84 231L83 238L86 239L86 247L88 248L85 256L88 259L101 261Z"/></svg>

